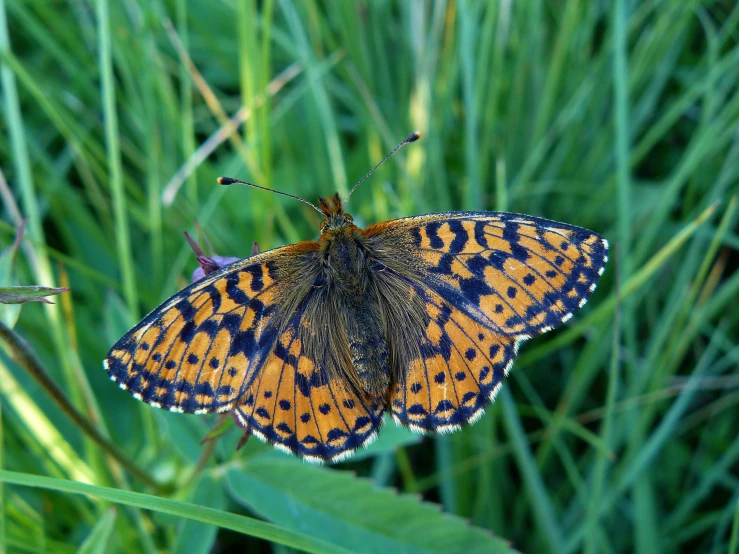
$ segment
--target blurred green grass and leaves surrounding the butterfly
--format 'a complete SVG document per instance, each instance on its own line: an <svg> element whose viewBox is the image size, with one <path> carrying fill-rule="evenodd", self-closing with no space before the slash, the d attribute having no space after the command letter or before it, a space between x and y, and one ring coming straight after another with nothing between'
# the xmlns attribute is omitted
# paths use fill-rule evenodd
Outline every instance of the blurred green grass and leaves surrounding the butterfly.
<svg viewBox="0 0 739 554"><path fill-rule="evenodd" d="M0 285L71 288L14 330L139 468L3 342L6 551L737 552L735 2L0 0L0 63L3 248L30 218ZM108 348L188 282L195 221L227 256L317 236L218 175L315 201L413 130L352 197L360 225L508 210L614 245L476 425L390 423L318 468L236 452L235 429L203 446L214 417L108 380Z"/></svg>

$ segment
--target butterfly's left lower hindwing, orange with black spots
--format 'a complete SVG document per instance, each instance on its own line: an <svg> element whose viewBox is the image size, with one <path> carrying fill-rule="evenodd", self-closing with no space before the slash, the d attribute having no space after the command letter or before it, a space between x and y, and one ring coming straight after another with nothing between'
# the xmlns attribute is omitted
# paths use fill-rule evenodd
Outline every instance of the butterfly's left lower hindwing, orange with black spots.
<svg viewBox="0 0 739 554"><path fill-rule="evenodd" d="M239 425L308 461L338 461L372 441L382 424L382 399L359 396L344 379L305 352L301 318L280 334L274 352L235 410Z"/></svg>

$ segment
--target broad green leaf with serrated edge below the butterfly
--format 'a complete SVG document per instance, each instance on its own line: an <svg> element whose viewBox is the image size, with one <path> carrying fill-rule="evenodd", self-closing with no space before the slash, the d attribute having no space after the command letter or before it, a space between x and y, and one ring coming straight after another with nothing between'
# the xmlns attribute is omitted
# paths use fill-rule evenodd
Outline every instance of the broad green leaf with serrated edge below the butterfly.
<svg viewBox="0 0 739 554"><path fill-rule="evenodd" d="M438 506L347 472L266 454L226 479L234 497L257 513L352 552L511 552L504 539Z"/></svg>

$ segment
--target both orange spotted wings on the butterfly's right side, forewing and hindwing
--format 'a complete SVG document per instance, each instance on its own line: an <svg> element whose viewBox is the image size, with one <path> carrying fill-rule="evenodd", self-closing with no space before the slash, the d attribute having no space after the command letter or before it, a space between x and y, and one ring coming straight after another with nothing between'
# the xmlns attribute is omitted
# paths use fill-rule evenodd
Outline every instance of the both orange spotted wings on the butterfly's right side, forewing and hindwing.
<svg viewBox="0 0 739 554"><path fill-rule="evenodd" d="M381 267L406 263L419 276L410 282L427 316L420 355L390 395L395 419L418 431L449 431L479 417L518 344L572 317L608 260L608 243L592 231L508 213L399 219L365 237Z"/></svg>

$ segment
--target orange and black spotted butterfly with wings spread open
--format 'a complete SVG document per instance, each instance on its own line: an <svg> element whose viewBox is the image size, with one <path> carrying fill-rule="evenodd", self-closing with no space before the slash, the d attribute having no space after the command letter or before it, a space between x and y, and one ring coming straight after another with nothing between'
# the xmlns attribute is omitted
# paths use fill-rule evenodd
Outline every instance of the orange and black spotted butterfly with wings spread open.
<svg viewBox="0 0 739 554"><path fill-rule="evenodd" d="M111 379L152 406L231 412L281 450L335 462L377 436L385 411L421 433L475 422L519 345L571 318L608 261L600 235L538 217L445 212L360 229L345 204L319 199L317 241L165 301L110 350Z"/></svg>

